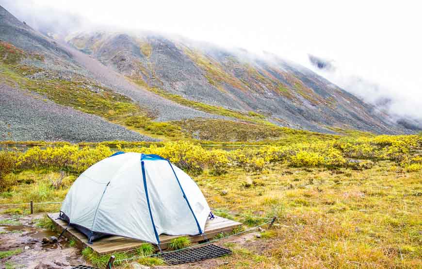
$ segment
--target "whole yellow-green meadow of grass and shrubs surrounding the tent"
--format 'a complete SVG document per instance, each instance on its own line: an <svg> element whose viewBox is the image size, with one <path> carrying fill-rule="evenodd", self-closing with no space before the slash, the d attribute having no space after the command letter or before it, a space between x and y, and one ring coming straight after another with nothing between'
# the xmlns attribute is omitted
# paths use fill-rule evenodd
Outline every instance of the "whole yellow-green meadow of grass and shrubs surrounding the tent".
<svg viewBox="0 0 422 269"><path fill-rule="evenodd" d="M292 137L231 151L189 141L31 142L23 152L9 144L0 151L0 204L62 201L84 169L114 151L154 153L193 176L216 215L249 227L262 223L259 217L277 216L260 238L224 239L233 254L220 258L223 268L422 267L421 136ZM2 213L27 214L28 208ZM50 223L40 219L37 225ZM89 249L83 255L96 265L108 260ZM138 262L162 264L149 257Z"/></svg>

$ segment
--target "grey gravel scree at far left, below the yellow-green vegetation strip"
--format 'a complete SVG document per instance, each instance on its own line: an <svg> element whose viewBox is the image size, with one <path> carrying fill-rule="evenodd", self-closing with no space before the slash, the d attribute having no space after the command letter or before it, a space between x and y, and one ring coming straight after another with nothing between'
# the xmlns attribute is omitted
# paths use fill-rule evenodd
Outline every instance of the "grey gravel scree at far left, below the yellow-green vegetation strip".
<svg viewBox="0 0 422 269"><path fill-rule="evenodd" d="M0 140L156 141L95 115L0 84Z"/></svg>

